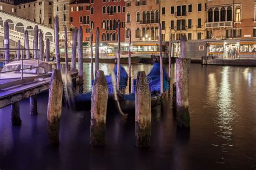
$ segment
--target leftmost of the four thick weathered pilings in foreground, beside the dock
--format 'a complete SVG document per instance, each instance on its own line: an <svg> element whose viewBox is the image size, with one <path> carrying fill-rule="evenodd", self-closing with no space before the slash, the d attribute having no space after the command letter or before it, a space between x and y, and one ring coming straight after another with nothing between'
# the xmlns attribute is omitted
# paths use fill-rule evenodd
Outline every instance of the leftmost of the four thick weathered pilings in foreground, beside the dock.
<svg viewBox="0 0 256 170"><path fill-rule="evenodd" d="M53 69L50 89L49 100L47 108L48 119L48 133L51 145L59 144L59 123L60 115L62 113L62 95L63 95L62 75L59 69Z"/></svg>

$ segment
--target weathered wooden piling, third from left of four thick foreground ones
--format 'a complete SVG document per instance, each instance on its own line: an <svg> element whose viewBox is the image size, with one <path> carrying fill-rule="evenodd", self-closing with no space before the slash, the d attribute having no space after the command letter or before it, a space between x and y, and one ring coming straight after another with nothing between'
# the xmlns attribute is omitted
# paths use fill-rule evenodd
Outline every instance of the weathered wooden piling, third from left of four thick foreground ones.
<svg viewBox="0 0 256 170"><path fill-rule="evenodd" d="M151 97L146 73L138 72L135 91L135 136L137 147L149 147L151 136Z"/></svg>

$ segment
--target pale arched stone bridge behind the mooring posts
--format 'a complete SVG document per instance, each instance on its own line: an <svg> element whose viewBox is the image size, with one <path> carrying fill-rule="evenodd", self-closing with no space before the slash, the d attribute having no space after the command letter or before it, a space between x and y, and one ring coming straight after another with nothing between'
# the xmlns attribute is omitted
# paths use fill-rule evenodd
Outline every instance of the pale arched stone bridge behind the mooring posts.
<svg viewBox="0 0 256 170"><path fill-rule="evenodd" d="M33 47L33 29L35 25L38 25L38 29L43 32L44 40L50 39L50 51L54 52L55 43L54 40L54 30L43 24L32 22L31 20L12 15L11 13L4 12L0 10L0 36L4 37L3 24L7 21L9 25L9 35L10 39L17 42L21 40L21 45L24 45L24 31L28 30L29 33L29 46ZM44 43L45 45L45 43Z"/></svg>

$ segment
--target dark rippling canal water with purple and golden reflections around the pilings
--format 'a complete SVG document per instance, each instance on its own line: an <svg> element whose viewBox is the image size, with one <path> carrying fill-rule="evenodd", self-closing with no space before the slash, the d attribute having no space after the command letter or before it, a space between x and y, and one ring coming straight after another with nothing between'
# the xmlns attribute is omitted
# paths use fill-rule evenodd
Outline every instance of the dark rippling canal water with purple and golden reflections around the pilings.
<svg viewBox="0 0 256 170"><path fill-rule="evenodd" d="M100 65L105 74L113 67ZM84 68L85 84L90 84L90 65ZM133 65L133 76L151 68ZM174 70L173 65L173 80ZM29 100L21 102L22 126L11 125L10 107L0 109L0 169L256 169L255 89L256 67L191 64L190 130L177 129L170 97L163 112L152 112L148 149L134 146L134 113L125 120L109 110L106 146L94 148L89 145L90 112L66 107L60 145L49 146L48 93L43 93L37 116L29 114Z"/></svg>

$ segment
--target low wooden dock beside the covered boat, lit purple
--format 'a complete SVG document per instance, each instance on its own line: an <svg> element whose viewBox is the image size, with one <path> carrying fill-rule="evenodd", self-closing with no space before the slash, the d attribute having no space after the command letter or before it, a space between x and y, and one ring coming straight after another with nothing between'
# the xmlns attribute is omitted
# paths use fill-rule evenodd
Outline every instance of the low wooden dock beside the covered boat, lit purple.
<svg viewBox="0 0 256 170"><path fill-rule="evenodd" d="M70 73L72 79L78 77L78 72ZM28 83L18 84L0 90L0 108L4 108L10 104L14 104L29 98L30 96L42 93L42 91L49 89L51 77L46 77L42 81L31 81Z"/></svg>

